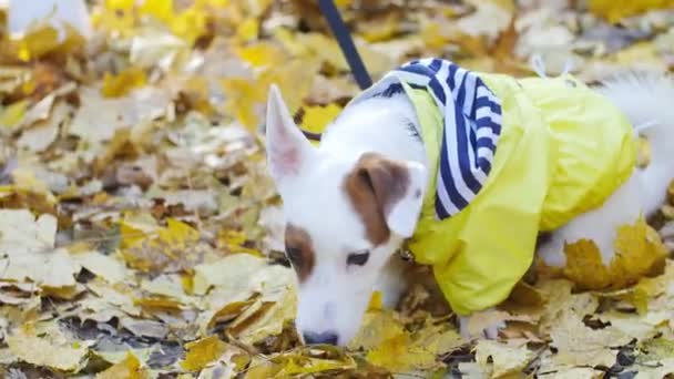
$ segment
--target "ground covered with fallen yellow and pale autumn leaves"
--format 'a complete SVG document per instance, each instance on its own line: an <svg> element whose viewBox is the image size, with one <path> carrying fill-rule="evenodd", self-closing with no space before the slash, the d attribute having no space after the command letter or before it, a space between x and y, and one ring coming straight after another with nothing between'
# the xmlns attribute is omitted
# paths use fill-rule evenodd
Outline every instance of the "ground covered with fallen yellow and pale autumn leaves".
<svg viewBox="0 0 674 379"><path fill-rule="evenodd" d="M537 265L473 320L507 321L498 340L462 340L417 286L396 311L375 296L348 349L302 347L258 131L269 83L314 131L357 93L315 2L90 1L91 30L3 3L0 376L674 375L670 205L664 245L636 224L609 268L588 243L563 270ZM337 3L375 79L430 55L530 75L538 53L589 83L674 68L671 0Z"/></svg>

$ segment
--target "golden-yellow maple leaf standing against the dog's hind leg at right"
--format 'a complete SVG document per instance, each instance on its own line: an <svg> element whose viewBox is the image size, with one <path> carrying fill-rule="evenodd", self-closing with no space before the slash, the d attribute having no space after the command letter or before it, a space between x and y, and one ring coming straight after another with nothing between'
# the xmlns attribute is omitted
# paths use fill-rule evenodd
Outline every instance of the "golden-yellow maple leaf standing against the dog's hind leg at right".
<svg viewBox="0 0 674 379"><path fill-rule="evenodd" d="M643 218L621 226L614 246L615 256L606 267L593 242L581 239L566 245L564 275L582 289L619 289L664 267L666 249Z"/></svg>

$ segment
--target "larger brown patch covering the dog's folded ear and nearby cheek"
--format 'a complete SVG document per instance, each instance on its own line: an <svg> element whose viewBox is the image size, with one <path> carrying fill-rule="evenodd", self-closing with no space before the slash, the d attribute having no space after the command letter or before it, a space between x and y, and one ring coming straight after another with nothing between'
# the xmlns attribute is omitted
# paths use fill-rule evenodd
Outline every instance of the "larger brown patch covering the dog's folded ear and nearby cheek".
<svg viewBox="0 0 674 379"><path fill-rule="evenodd" d="M410 185L404 165L380 154L366 153L347 175L345 191L365 224L367 238L376 246L388 240L386 217Z"/></svg>

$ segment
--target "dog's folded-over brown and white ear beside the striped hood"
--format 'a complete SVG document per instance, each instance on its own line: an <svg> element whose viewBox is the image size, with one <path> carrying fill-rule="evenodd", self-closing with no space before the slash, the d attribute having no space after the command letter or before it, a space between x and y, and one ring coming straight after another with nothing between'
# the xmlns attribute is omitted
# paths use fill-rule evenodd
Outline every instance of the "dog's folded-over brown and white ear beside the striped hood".
<svg viewBox="0 0 674 379"><path fill-rule="evenodd" d="M415 233L423 203L427 170L417 162L389 160L366 153L357 163L357 175L371 191L388 228L401 237Z"/></svg>

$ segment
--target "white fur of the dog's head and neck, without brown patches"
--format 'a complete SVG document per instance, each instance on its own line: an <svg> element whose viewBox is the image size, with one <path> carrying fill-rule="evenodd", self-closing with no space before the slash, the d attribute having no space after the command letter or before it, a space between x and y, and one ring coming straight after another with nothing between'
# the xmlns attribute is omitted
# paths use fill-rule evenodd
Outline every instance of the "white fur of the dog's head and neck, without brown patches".
<svg viewBox="0 0 674 379"><path fill-rule="evenodd" d="M423 150L410 150L409 145L402 148L405 142L409 142L409 134L396 124L385 131L381 120L397 120L398 107L380 106L377 112L366 112L360 117L350 117L349 112L340 115L338 122L360 123L331 127L318 148L295 126L276 88L269 93L267 109L267 161L284 201L284 216L287 223L309 234L316 254L310 276L299 284L295 324L300 336L334 332L338 344L345 345L358 331L379 277L391 284L390 276L381 273L389 272L385 266L395 267L389 258L402 243L402 237L392 235L387 243L371 246L365 225L343 190L345 177L362 153L380 152L390 156L392 152L401 152L401 161L418 170L421 164L412 158L422 160ZM375 125L377 127L372 127ZM377 140L372 143L375 136ZM299 156L296 162L288 158L296 156ZM417 180L423 177L423 174L417 175ZM418 209L413 212L418 215ZM347 266L348 254L364 249L370 250L368 263L361 267ZM386 287L386 303L395 304L397 299L388 291L389 286Z"/></svg>

